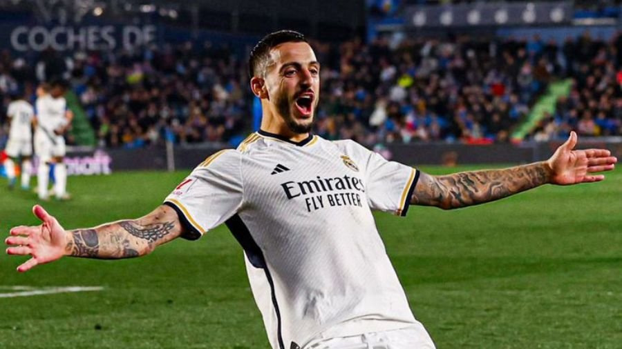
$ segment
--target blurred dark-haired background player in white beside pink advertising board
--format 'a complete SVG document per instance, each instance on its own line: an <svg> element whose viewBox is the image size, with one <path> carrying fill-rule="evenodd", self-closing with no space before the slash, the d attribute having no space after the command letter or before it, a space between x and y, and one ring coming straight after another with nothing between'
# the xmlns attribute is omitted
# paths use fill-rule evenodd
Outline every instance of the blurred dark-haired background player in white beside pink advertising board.
<svg viewBox="0 0 622 349"><path fill-rule="evenodd" d="M63 162L65 139L63 135L71 125L73 113L67 108L64 98L67 86L64 81L50 82L49 93L37 97L35 153L39 157L37 169L37 194L39 199L48 199L50 165L54 166L54 195L59 200L69 199L66 192L67 168ZM39 91L37 91L39 94Z"/></svg>

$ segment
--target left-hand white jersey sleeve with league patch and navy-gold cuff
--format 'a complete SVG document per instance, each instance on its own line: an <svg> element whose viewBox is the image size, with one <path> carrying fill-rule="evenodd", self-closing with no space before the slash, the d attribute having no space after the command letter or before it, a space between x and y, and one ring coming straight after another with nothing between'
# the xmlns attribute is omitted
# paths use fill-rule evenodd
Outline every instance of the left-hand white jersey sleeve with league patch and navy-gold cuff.
<svg viewBox="0 0 622 349"><path fill-rule="evenodd" d="M236 150L216 152L164 199L187 228L183 238L198 239L237 212L243 199L240 157Z"/></svg>

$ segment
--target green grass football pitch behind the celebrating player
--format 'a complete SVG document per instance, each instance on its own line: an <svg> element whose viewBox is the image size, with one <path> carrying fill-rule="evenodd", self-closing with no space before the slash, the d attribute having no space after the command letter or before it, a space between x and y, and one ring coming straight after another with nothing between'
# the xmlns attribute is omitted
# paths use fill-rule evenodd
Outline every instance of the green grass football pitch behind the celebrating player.
<svg viewBox="0 0 622 349"><path fill-rule="evenodd" d="M65 228L140 217L187 173L70 177L74 199L44 207ZM12 226L38 223L35 195L5 183L3 239ZM622 348L620 170L603 183L376 218L438 348ZM23 261L0 256L0 348L268 348L242 249L225 226L139 259L65 258L19 274Z"/></svg>

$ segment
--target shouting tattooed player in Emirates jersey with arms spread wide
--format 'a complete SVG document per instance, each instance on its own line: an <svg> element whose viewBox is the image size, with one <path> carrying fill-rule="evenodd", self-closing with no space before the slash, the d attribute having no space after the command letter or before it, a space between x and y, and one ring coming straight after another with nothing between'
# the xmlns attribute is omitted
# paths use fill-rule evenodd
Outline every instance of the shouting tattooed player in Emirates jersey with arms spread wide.
<svg viewBox="0 0 622 349"><path fill-rule="evenodd" d="M574 150L572 132L547 161L427 175L353 141L310 134L320 69L302 34L267 35L249 59L261 130L236 150L205 159L144 217L65 230L35 206L43 223L12 228L6 239L8 254L32 256L17 270L63 256L147 255L225 223L244 249L272 348L434 348L408 306L372 211L404 216L411 203L460 208L546 183L601 181L593 172L617 161L607 150Z"/></svg>

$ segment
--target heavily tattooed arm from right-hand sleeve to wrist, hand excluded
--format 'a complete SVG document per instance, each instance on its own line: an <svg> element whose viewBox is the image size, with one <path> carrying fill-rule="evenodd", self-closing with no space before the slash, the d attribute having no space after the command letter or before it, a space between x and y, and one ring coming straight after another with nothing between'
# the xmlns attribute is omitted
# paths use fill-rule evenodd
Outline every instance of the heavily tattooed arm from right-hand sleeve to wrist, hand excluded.
<svg viewBox="0 0 622 349"><path fill-rule="evenodd" d="M422 173L411 203L444 209L461 208L536 188L549 183L549 179L545 163L438 177Z"/></svg>

